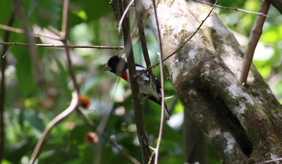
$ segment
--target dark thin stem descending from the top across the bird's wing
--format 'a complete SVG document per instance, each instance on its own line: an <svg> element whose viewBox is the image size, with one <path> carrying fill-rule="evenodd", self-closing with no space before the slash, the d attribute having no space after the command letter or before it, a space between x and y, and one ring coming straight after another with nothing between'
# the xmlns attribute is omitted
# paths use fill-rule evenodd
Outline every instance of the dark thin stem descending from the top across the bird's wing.
<svg viewBox="0 0 282 164"><path fill-rule="evenodd" d="M139 30L139 34L140 34L142 52L143 52L144 60L146 62L146 66L147 66L147 68L149 68L151 66L151 61L150 61L149 52L148 52L148 48L147 48L144 25L143 25L142 14L141 14L142 6L141 6L139 0L135 1L134 5L135 5L135 14L136 14L137 26L138 26L138 30ZM156 91L157 84L156 84L155 78L153 76L153 72L152 72L152 70L148 70L148 72L149 72L149 75L150 75L151 86L153 85L153 88Z"/></svg>

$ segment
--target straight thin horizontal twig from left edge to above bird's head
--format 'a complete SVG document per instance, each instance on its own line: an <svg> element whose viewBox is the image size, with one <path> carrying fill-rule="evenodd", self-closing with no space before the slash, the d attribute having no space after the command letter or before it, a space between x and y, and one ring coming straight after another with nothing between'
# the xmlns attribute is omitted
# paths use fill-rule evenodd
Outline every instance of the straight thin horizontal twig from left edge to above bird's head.
<svg viewBox="0 0 282 164"><path fill-rule="evenodd" d="M0 42L0 44L2 45L17 45L17 46L29 46L29 44L27 43L18 43L18 42ZM73 46L73 45L60 45L60 44L34 44L35 46L38 47L55 47L55 48L90 48L90 49L123 49L123 46Z"/></svg>

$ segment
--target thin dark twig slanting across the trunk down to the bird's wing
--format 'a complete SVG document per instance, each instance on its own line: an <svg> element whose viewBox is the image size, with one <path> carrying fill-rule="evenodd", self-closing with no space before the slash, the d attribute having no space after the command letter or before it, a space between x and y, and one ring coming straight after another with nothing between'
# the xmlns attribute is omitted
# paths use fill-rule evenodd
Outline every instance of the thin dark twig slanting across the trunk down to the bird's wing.
<svg viewBox="0 0 282 164"><path fill-rule="evenodd" d="M217 0L214 5L216 5L218 1L219 1L219 0ZM212 13L212 11L214 10L214 7L215 7L215 6L212 6L212 9L209 11L209 14L207 15L207 17L206 17L204 20L202 20L202 23L199 25L199 27L196 29L196 31L194 31L194 33L193 33L185 42L183 42L182 45L181 45L180 47L178 47L173 53L171 53L169 56L167 56L166 58L164 58L163 61L166 61L168 58L170 58L170 57L173 56L175 53L177 53L180 49L182 49L182 47L184 46L184 44L186 44L190 39L192 39L192 37L194 37L194 35L198 32L198 30L202 27L202 25L204 24L204 22L205 22L205 21L207 20L207 18L209 17L209 15ZM142 72L139 73L138 75L135 75L134 77L135 77L135 78L139 77L139 76L142 75L143 73L147 72L148 70L152 69L153 67L155 67L155 66L157 66L157 65L159 65L159 64L160 64L160 62L156 63L155 65L152 65L151 67L149 67L149 68L147 68L146 70L142 71Z"/></svg>

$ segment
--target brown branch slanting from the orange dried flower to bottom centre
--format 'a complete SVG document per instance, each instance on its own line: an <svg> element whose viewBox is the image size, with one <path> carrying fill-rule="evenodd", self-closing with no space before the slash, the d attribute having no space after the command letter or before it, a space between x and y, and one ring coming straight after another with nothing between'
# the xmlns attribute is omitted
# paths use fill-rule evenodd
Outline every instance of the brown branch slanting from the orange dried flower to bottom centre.
<svg viewBox="0 0 282 164"><path fill-rule="evenodd" d="M102 136L104 139L106 139L112 146L114 146L123 156L125 156L128 160L130 160L134 164L141 164L139 161L137 161L134 157L132 157L130 154L125 152L118 146L105 132L101 132L98 130L97 126L89 120L80 110L77 110L77 113L83 118L83 120L93 128L97 132L98 135Z"/></svg>

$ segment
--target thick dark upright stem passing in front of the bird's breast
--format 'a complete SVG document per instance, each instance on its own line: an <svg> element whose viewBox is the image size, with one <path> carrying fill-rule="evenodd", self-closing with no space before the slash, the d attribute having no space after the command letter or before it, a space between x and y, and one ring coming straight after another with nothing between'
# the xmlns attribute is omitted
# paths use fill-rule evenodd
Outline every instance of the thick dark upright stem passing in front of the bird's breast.
<svg viewBox="0 0 282 164"><path fill-rule="evenodd" d="M123 11L126 9L127 0L119 0L119 8L120 14L124 13ZM147 136L145 132L144 122L143 122L143 114L142 114L142 106L141 101L138 98L139 94L139 86L137 81L134 80L134 75L136 74L133 50L132 50L132 40L130 36L130 24L128 14L125 14L125 17L122 22L122 35L124 42L125 55L127 57L127 66L129 70L130 77L130 86L133 97L133 109L135 113L135 122L137 127L138 139L141 145L142 156L145 163L147 163L151 156L150 148L148 147Z"/></svg>

